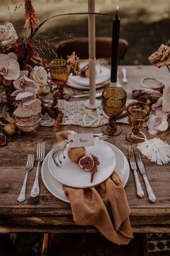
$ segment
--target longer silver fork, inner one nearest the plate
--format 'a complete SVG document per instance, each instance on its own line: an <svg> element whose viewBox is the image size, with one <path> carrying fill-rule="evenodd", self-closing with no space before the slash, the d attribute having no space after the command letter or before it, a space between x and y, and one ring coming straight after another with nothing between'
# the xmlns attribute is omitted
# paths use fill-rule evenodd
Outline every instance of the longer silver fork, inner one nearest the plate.
<svg viewBox="0 0 170 256"><path fill-rule="evenodd" d="M31 196L37 197L40 194L40 186L39 186L39 169L40 163L45 158L45 142L37 142L37 171L35 174L35 181L31 189Z"/></svg>

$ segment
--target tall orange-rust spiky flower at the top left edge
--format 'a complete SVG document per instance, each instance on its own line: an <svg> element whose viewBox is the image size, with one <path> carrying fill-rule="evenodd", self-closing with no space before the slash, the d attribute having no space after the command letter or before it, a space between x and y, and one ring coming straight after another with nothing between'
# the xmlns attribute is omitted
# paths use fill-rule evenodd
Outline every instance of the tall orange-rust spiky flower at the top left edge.
<svg viewBox="0 0 170 256"><path fill-rule="evenodd" d="M37 15L35 14L35 9L32 6L32 1L31 0L24 0L24 27L27 29L35 30L37 27Z"/></svg>

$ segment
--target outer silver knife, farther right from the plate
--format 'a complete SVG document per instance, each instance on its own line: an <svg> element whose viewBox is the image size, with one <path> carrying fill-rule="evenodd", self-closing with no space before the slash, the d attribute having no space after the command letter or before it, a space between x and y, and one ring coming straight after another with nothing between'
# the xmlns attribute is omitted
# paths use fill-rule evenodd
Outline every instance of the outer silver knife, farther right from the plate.
<svg viewBox="0 0 170 256"><path fill-rule="evenodd" d="M151 185L148 181L148 177L146 176L146 169L145 169L145 166L143 166L143 161L140 158L140 153L135 152L135 160L138 163L138 168L139 168L140 174L143 175L143 179L146 184L146 190L148 192L148 200L150 202L156 202L156 196L154 195Z"/></svg>

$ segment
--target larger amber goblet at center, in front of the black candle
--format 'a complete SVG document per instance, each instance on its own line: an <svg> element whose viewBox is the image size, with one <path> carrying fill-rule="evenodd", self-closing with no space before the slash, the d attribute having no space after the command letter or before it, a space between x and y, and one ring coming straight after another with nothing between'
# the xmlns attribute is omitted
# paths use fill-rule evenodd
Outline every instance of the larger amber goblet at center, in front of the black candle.
<svg viewBox="0 0 170 256"><path fill-rule="evenodd" d="M116 119L125 109L127 94L122 88L110 87L102 92L102 108L105 114L109 116L109 124L104 125L105 135L117 136L122 132L122 128L117 125Z"/></svg>

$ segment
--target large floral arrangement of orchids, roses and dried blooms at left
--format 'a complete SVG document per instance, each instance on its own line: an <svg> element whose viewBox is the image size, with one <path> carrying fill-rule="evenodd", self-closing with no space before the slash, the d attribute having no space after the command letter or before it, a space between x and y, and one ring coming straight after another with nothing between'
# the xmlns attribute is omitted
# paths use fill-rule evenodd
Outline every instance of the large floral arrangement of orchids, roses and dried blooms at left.
<svg viewBox="0 0 170 256"><path fill-rule="evenodd" d="M40 57L40 38L35 40L33 37L49 19L38 25L31 0L24 0L24 10L24 27L30 30L27 38L19 37L10 22L0 25L0 87L4 88L9 111L14 116L27 118L48 112L61 121L62 113L56 107L56 101L47 106L38 94L42 86L48 85L46 67L49 64ZM79 58L75 53L69 56L67 68L69 73L79 74Z"/></svg>

